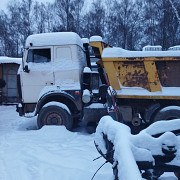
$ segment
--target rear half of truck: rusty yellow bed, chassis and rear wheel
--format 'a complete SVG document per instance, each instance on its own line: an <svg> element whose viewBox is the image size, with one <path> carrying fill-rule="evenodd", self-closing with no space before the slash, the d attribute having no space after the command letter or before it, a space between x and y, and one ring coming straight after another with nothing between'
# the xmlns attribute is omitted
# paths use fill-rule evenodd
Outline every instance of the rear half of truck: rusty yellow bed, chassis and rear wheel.
<svg viewBox="0 0 180 180"><path fill-rule="evenodd" d="M180 118L180 51L128 51L90 42L103 82L115 95L116 119L136 131Z"/></svg>

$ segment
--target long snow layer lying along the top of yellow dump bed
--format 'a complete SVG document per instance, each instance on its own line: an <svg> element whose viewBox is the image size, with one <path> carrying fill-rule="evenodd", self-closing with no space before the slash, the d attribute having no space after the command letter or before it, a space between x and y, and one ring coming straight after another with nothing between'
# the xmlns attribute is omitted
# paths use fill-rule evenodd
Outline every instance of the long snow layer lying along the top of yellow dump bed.
<svg viewBox="0 0 180 180"><path fill-rule="evenodd" d="M180 57L180 51L128 51L122 48L105 48L103 58L118 57Z"/></svg>

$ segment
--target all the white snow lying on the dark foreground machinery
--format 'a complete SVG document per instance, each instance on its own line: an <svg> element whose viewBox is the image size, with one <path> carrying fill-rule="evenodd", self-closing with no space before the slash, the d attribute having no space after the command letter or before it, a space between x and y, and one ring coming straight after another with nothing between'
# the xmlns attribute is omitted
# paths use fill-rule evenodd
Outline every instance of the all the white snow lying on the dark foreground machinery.
<svg viewBox="0 0 180 180"><path fill-rule="evenodd" d="M172 127L170 123L172 123ZM165 155L162 147L175 146L177 149L176 157L168 164L180 166L180 137L169 132L177 130L179 127L180 119L166 122L160 121L137 135L131 135L128 126L114 121L110 116L104 116L96 129L95 143L98 145L98 149L103 154L106 154L107 149L103 134L107 135L108 140L114 145L113 158L114 163L118 162L118 177L121 180L140 180L142 178L136 161L155 164L154 155ZM165 133L158 138L152 136L154 133L162 132Z"/></svg>

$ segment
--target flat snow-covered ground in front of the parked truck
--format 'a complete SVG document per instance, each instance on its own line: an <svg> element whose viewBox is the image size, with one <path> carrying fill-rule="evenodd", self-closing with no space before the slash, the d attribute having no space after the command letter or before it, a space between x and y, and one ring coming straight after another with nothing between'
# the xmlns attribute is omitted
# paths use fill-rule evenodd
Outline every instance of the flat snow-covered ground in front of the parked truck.
<svg viewBox="0 0 180 180"><path fill-rule="evenodd" d="M36 128L36 118L19 117L15 106L0 106L0 180L91 180L105 162L94 146L94 134L83 127ZM94 180L113 180L105 164ZM159 180L177 180L165 173Z"/></svg>

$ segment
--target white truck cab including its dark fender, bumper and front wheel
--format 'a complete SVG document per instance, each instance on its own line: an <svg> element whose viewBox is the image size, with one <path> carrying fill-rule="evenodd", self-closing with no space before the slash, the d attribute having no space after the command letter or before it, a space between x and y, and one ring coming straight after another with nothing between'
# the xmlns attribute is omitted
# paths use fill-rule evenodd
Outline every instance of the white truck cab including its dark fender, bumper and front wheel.
<svg viewBox="0 0 180 180"><path fill-rule="evenodd" d="M73 32L29 36L18 74L19 114L38 115L39 128L65 125L71 129L73 118L83 114L83 77L98 79L98 73L83 73L87 66L86 51L83 40ZM87 81L88 87L98 89L98 81Z"/></svg>

